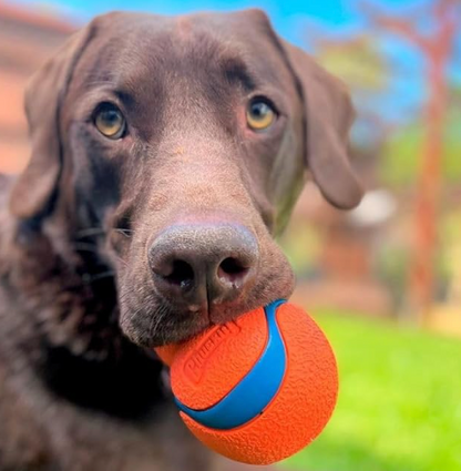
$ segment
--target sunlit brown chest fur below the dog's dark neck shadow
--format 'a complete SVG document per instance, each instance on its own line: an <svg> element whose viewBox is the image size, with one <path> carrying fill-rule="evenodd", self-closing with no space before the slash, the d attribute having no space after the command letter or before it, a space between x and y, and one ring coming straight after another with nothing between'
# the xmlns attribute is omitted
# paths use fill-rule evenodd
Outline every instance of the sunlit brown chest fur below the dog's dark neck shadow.
<svg viewBox="0 0 461 471"><path fill-rule="evenodd" d="M11 313L0 306L0 471L208 470L207 451L172 401L160 399L145 416L127 419L51 391L21 355L19 332L28 326Z"/></svg>

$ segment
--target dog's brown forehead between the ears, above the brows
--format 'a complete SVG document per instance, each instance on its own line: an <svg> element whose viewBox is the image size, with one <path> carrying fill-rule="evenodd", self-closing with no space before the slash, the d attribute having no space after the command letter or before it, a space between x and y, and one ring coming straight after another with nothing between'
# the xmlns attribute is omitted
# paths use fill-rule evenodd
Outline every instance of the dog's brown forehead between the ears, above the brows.
<svg viewBox="0 0 461 471"><path fill-rule="evenodd" d="M89 51L82 57L84 75L135 83L184 72L188 80L205 72L247 74L280 85L288 71L263 13L195 13L182 17L116 13L100 17Z"/></svg>

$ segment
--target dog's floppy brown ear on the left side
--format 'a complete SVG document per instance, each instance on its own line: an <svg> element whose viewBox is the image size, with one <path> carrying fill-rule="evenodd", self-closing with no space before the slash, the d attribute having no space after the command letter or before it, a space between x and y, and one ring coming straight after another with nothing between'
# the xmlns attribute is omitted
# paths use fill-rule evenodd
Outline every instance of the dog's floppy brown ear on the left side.
<svg viewBox="0 0 461 471"><path fill-rule="evenodd" d="M35 217L50 208L62 166L60 107L90 37L90 27L71 37L28 84L25 114L32 154L10 197L10 211L19 218Z"/></svg>

